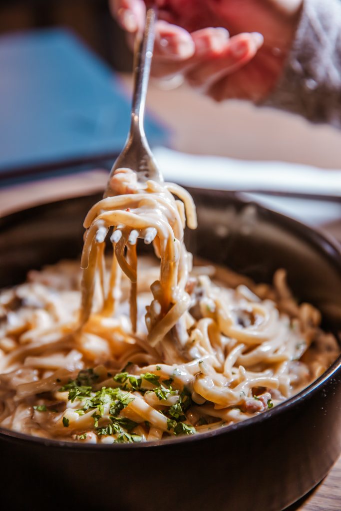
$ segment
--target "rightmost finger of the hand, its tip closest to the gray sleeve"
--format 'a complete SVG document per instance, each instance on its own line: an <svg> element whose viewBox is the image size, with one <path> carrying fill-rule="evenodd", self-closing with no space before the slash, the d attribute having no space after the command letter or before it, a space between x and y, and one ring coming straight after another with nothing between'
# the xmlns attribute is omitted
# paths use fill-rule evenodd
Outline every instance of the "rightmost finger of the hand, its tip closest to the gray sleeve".
<svg viewBox="0 0 341 511"><path fill-rule="evenodd" d="M252 60L262 44L261 34L238 34L225 43L225 49L216 58L200 62L190 69L186 79L192 86L208 88Z"/></svg>

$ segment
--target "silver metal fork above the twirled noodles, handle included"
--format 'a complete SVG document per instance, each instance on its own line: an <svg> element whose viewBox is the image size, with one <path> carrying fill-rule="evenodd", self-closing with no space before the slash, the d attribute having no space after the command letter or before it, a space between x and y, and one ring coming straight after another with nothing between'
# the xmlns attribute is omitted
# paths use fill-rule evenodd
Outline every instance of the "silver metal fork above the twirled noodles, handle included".
<svg viewBox="0 0 341 511"><path fill-rule="evenodd" d="M144 130L144 112L149 81L149 73L154 48L154 27L157 10L150 7L146 14L146 24L143 35L137 36L134 48L134 89L131 108L131 123L125 146L112 166L104 197L115 193L110 188L110 178L120 168L128 168L138 174L138 181L148 179L162 182L163 177L158 170L155 158L148 145Z"/></svg>

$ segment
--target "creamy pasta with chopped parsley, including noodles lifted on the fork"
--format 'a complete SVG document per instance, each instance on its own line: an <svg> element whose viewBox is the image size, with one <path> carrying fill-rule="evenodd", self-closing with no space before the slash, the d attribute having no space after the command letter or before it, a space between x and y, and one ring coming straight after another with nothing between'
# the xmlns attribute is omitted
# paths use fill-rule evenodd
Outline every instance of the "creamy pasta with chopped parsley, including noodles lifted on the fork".
<svg viewBox="0 0 341 511"><path fill-rule="evenodd" d="M84 221L82 276L62 261L0 293L2 427L83 443L190 435L265 412L336 359L336 339L284 270L268 286L192 268L185 190L141 185L128 169L110 187ZM160 265L138 264L139 238Z"/></svg>

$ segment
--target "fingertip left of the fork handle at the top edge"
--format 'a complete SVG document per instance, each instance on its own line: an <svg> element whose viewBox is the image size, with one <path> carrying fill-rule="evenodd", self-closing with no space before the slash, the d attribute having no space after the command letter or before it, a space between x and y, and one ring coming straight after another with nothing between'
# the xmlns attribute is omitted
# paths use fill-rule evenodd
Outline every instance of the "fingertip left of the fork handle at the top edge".
<svg viewBox="0 0 341 511"><path fill-rule="evenodd" d="M130 33L143 30L146 18L146 5L143 0L110 0L112 15L119 25Z"/></svg>

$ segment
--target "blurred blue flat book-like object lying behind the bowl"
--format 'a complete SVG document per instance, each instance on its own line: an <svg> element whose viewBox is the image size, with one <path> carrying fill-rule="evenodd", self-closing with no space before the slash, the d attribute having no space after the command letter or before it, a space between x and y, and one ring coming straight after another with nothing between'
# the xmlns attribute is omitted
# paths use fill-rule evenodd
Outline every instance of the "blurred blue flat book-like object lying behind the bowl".
<svg viewBox="0 0 341 511"><path fill-rule="evenodd" d="M0 179L115 158L131 98L106 64L64 29L0 37ZM167 129L147 115L151 145Z"/></svg>

